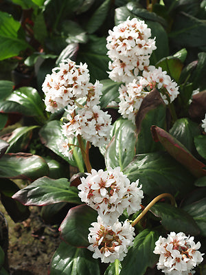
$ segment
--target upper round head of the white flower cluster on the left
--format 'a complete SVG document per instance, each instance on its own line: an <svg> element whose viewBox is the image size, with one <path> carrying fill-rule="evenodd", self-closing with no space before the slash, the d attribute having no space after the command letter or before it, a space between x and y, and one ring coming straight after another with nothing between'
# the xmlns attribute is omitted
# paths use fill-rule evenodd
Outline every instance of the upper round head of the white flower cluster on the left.
<svg viewBox="0 0 206 275"><path fill-rule="evenodd" d="M86 63L76 65L69 58L62 61L59 67L52 69L52 74L47 74L42 86L46 110L54 113L68 104L73 105L74 100L87 95L88 84Z"/></svg>

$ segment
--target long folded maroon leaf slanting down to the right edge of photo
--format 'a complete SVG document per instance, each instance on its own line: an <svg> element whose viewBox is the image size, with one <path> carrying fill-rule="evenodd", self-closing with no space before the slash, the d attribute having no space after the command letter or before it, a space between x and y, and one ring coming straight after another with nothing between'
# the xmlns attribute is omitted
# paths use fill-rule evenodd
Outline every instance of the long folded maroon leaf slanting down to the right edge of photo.
<svg viewBox="0 0 206 275"><path fill-rule="evenodd" d="M196 159L181 142L157 126L152 126L151 129L154 140L161 142L168 153L190 170L192 175L195 177L206 175L205 164Z"/></svg>

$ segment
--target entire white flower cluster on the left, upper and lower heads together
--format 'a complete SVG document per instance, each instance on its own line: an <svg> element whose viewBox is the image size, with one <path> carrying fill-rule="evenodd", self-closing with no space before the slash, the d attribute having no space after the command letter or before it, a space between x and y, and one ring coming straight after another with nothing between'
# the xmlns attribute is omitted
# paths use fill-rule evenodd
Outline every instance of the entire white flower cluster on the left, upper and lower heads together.
<svg viewBox="0 0 206 275"><path fill-rule="evenodd" d="M111 115L100 110L100 96L102 84L96 80L89 83L87 64L76 65L67 59L60 63L60 67L52 69L43 83L46 110L54 113L62 107L67 107L68 122L62 126L65 140L60 142L59 149L63 155L71 158L72 150L69 137L82 135L94 146L103 146L108 142L111 131ZM86 103L80 106L77 100L84 98ZM78 109L81 107L81 109Z"/></svg>

